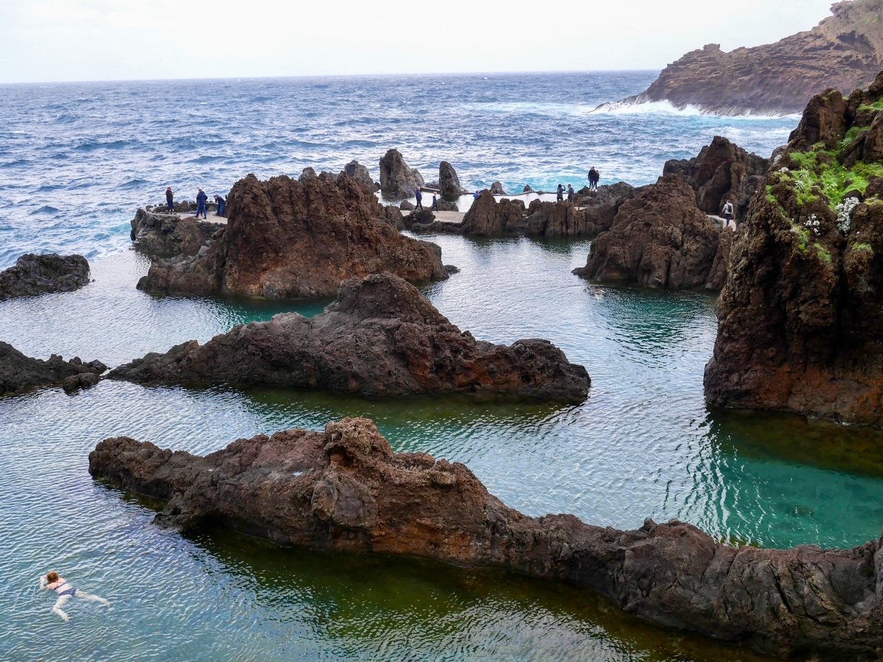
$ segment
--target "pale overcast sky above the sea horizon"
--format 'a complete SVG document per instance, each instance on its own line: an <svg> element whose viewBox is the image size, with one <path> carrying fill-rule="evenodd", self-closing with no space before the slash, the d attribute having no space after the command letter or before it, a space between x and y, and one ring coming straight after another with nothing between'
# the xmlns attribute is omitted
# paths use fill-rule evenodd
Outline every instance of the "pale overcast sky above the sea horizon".
<svg viewBox="0 0 883 662"><path fill-rule="evenodd" d="M0 83L661 69L808 30L831 4L0 0Z"/></svg>

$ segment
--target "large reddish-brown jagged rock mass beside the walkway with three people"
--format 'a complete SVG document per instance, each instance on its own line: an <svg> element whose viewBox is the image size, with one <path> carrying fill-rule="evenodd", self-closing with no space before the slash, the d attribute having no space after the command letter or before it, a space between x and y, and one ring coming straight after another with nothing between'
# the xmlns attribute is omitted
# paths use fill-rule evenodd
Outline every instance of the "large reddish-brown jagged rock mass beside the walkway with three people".
<svg viewBox="0 0 883 662"><path fill-rule="evenodd" d="M227 200L226 229L194 258L155 262L138 287L166 293L328 297L353 276L390 271L409 281L447 278L437 246L390 227L373 192L345 175L298 182L254 175Z"/></svg>

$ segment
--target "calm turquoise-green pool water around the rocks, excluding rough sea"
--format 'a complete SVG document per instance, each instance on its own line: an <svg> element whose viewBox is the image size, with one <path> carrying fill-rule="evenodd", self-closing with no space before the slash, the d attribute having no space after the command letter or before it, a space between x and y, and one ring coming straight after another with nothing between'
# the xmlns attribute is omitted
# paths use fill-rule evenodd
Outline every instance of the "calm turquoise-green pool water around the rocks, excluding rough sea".
<svg viewBox="0 0 883 662"><path fill-rule="evenodd" d="M879 433L706 409L714 299L599 287L570 275L588 242L433 237L462 269L425 289L480 339L546 337L592 375L580 405L365 401L269 388L103 381L0 400L0 658L12 660L718 660L744 651L645 625L556 583L397 559L280 550L150 523L150 504L94 482L97 441L128 435L206 453L291 426L374 418L396 450L467 463L530 515L635 528L678 517L739 544L857 545L883 523ZM0 303L27 354L117 365L232 325L321 303L152 297L147 262L94 264L83 290ZM64 623L37 578L62 570L112 601ZM55 650L64 642L64 651Z"/></svg>

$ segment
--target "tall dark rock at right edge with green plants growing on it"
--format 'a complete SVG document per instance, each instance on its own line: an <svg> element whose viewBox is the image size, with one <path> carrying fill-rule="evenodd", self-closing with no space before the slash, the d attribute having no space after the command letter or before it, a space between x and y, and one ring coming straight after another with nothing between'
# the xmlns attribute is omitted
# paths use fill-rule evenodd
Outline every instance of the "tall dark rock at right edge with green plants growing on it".
<svg viewBox="0 0 883 662"><path fill-rule="evenodd" d="M709 402L883 425L881 161L883 73L810 102L733 247Z"/></svg>

